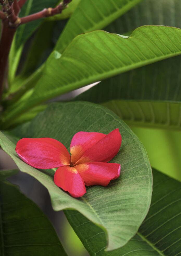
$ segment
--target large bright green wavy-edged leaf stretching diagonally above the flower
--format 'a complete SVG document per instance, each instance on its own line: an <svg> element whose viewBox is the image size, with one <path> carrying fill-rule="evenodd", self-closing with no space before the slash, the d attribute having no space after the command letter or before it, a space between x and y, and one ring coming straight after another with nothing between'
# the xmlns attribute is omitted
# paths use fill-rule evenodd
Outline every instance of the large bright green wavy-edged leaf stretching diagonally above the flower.
<svg viewBox="0 0 181 256"><path fill-rule="evenodd" d="M76 37L62 55L54 52L29 100L5 113L10 125L19 113L57 95L181 54L181 29L143 26L130 37L94 31ZM11 120L11 122L10 122Z"/></svg>

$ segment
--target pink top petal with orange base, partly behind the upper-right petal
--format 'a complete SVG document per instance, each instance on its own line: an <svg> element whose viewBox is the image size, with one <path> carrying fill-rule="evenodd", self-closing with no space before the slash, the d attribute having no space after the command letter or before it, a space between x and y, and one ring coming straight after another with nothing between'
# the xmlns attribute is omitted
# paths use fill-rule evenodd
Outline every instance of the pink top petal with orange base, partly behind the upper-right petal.
<svg viewBox="0 0 181 256"><path fill-rule="evenodd" d="M75 164L88 149L105 136L106 134L99 132L77 132L70 144L72 164Z"/></svg>

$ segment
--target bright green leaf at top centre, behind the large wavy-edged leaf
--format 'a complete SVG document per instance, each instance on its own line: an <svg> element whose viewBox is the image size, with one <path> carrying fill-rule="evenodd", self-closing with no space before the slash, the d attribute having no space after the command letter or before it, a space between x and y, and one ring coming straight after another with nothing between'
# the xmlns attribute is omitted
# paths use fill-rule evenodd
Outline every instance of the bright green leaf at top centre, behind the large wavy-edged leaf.
<svg viewBox="0 0 181 256"><path fill-rule="evenodd" d="M61 34L56 50L66 49L79 34L102 29L141 0L81 0Z"/></svg>

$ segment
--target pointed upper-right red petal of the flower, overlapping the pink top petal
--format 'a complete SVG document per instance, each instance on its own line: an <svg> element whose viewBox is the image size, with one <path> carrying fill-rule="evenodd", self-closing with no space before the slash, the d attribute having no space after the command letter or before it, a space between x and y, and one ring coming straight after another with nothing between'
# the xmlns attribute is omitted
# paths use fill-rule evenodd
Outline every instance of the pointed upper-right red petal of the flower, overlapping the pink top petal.
<svg viewBox="0 0 181 256"><path fill-rule="evenodd" d="M86 151L75 165L86 162L109 162L118 153L120 147L121 134L119 129L115 129Z"/></svg>

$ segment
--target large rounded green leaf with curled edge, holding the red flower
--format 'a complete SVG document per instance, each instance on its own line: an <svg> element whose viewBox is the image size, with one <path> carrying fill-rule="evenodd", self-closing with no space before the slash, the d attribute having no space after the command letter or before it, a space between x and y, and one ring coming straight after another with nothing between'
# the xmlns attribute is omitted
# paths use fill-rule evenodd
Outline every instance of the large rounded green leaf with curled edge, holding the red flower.
<svg viewBox="0 0 181 256"><path fill-rule="evenodd" d="M41 120L41 122L40 122ZM119 128L123 142L112 162L121 164L121 175L107 187L92 186L75 199L53 182L54 170L39 171L25 164L13 144L0 133L1 147L21 171L40 181L49 191L55 211L71 208L100 226L108 239L108 250L123 246L136 233L151 202L152 172L147 153L129 127L110 110L89 102L54 103L34 120L13 131L18 137L51 137L67 149L78 131L109 133Z"/></svg>

